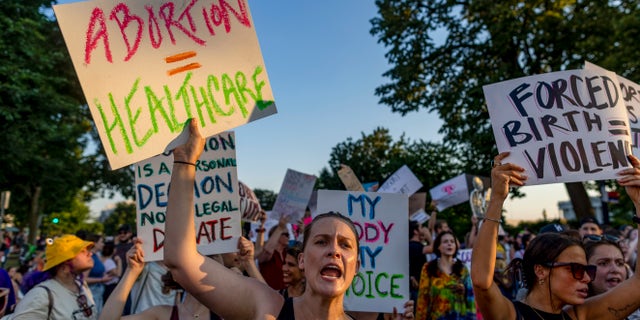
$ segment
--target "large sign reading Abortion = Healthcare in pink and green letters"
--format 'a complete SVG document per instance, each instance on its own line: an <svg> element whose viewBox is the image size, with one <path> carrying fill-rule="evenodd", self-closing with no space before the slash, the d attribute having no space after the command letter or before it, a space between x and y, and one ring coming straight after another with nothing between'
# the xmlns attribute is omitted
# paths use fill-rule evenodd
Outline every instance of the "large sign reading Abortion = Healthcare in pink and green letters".
<svg viewBox="0 0 640 320"><path fill-rule="evenodd" d="M112 169L276 113L246 0L53 9Z"/></svg>

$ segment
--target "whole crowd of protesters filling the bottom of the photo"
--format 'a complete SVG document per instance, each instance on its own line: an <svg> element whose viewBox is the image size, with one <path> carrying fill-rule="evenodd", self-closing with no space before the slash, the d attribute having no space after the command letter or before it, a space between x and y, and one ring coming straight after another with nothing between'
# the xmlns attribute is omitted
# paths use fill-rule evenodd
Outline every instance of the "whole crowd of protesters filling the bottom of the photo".
<svg viewBox="0 0 640 320"><path fill-rule="evenodd" d="M343 309L360 247L353 223L340 214L292 228L283 217L269 230L263 214L250 231L255 237L240 237L237 253L203 256L192 227L195 169L188 164L202 151L194 126L190 142L174 151L186 165L172 175L165 260L145 263L143 240L128 225L116 235L78 232L36 245L26 244L22 233L4 233L2 320L640 319L638 229L590 217L576 229L554 223L507 234L502 202L509 186L526 177L514 164L500 164L505 154L495 160L486 215L470 218L462 241L437 212L423 224L409 221L411 297L404 310ZM618 182L639 208L640 160L630 160L634 167ZM472 249L470 267L461 248Z"/></svg>

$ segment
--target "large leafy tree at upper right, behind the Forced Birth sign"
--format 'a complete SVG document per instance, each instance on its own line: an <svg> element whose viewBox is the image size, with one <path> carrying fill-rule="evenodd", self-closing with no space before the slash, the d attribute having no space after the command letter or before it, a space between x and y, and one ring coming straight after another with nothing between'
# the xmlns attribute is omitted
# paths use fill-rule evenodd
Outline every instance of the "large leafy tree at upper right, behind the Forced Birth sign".
<svg viewBox="0 0 640 320"><path fill-rule="evenodd" d="M444 120L465 170L488 175L497 153L482 86L580 68L585 60L638 79L639 1L376 0L371 34L389 47L382 104ZM634 36L635 35L635 36ZM576 214L593 215L584 185L565 184Z"/></svg>

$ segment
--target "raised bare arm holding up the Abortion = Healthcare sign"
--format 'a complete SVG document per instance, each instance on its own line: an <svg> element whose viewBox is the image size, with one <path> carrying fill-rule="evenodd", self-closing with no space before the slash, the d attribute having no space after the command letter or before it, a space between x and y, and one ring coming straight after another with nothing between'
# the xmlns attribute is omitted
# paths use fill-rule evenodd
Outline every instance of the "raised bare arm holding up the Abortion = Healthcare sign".
<svg viewBox="0 0 640 320"><path fill-rule="evenodd" d="M194 230L195 161L204 148L196 119L189 140L174 152L176 166L166 213L165 264L174 279L207 308L225 319L249 319L256 314L276 318L282 297L267 285L241 276L196 250ZM242 248L241 248L242 249ZM240 255L246 252L240 251ZM242 297L242 299L240 299Z"/></svg>

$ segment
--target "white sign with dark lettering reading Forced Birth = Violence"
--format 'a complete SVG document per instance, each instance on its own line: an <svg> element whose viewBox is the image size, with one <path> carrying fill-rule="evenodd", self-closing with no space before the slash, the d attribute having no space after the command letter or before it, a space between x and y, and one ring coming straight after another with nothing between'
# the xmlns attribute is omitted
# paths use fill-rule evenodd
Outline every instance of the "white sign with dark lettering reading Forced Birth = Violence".
<svg viewBox="0 0 640 320"><path fill-rule="evenodd" d="M569 70L483 87L502 162L527 185L615 179L631 165L629 117L616 75Z"/></svg>

